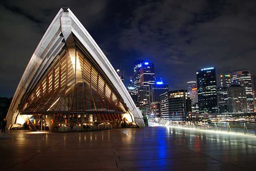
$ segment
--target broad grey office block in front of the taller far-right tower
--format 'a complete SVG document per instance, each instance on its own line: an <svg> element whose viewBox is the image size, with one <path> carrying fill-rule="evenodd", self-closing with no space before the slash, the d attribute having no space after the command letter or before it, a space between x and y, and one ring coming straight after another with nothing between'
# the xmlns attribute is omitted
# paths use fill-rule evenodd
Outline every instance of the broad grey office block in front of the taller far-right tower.
<svg viewBox="0 0 256 171"><path fill-rule="evenodd" d="M246 100L246 88L233 84L227 88L228 92L228 111L229 113L246 113L247 100Z"/></svg>

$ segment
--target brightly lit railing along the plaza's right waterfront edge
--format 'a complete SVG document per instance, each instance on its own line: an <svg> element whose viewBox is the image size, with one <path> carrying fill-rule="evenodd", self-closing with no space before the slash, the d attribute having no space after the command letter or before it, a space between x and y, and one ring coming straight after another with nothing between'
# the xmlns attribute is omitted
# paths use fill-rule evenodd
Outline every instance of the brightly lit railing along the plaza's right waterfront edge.
<svg viewBox="0 0 256 171"><path fill-rule="evenodd" d="M223 122L169 122L167 126L176 126L182 128L193 128L200 130L212 130L227 133L256 135L256 126L248 126L245 122L238 122L242 125L233 125L229 122L223 124Z"/></svg>

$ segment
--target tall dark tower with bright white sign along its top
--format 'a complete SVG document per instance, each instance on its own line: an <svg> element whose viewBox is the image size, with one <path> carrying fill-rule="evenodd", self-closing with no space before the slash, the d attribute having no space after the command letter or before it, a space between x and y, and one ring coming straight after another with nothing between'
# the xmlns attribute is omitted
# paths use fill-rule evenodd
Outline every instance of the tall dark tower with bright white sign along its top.
<svg viewBox="0 0 256 171"><path fill-rule="evenodd" d="M218 113L217 83L215 68L196 72L199 113Z"/></svg>

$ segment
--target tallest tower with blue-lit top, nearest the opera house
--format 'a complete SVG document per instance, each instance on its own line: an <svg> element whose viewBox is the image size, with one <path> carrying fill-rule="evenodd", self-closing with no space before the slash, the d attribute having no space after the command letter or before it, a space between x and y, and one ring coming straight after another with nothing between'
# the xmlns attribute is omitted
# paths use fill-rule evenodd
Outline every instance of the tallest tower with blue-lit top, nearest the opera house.
<svg viewBox="0 0 256 171"><path fill-rule="evenodd" d="M147 88L147 103L149 103L149 87L155 84L154 64L152 62L143 62L140 67L141 86Z"/></svg>

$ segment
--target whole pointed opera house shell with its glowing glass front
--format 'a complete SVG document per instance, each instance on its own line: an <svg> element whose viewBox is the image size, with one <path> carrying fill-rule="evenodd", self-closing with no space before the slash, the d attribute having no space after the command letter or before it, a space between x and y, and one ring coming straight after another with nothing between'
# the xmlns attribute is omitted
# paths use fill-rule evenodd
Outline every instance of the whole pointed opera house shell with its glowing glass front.
<svg viewBox="0 0 256 171"><path fill-rule="evenodd" d="M103 122L145 126L100 47L70 9L61 9L22 75L7 123L53 130Z"/></svg>

